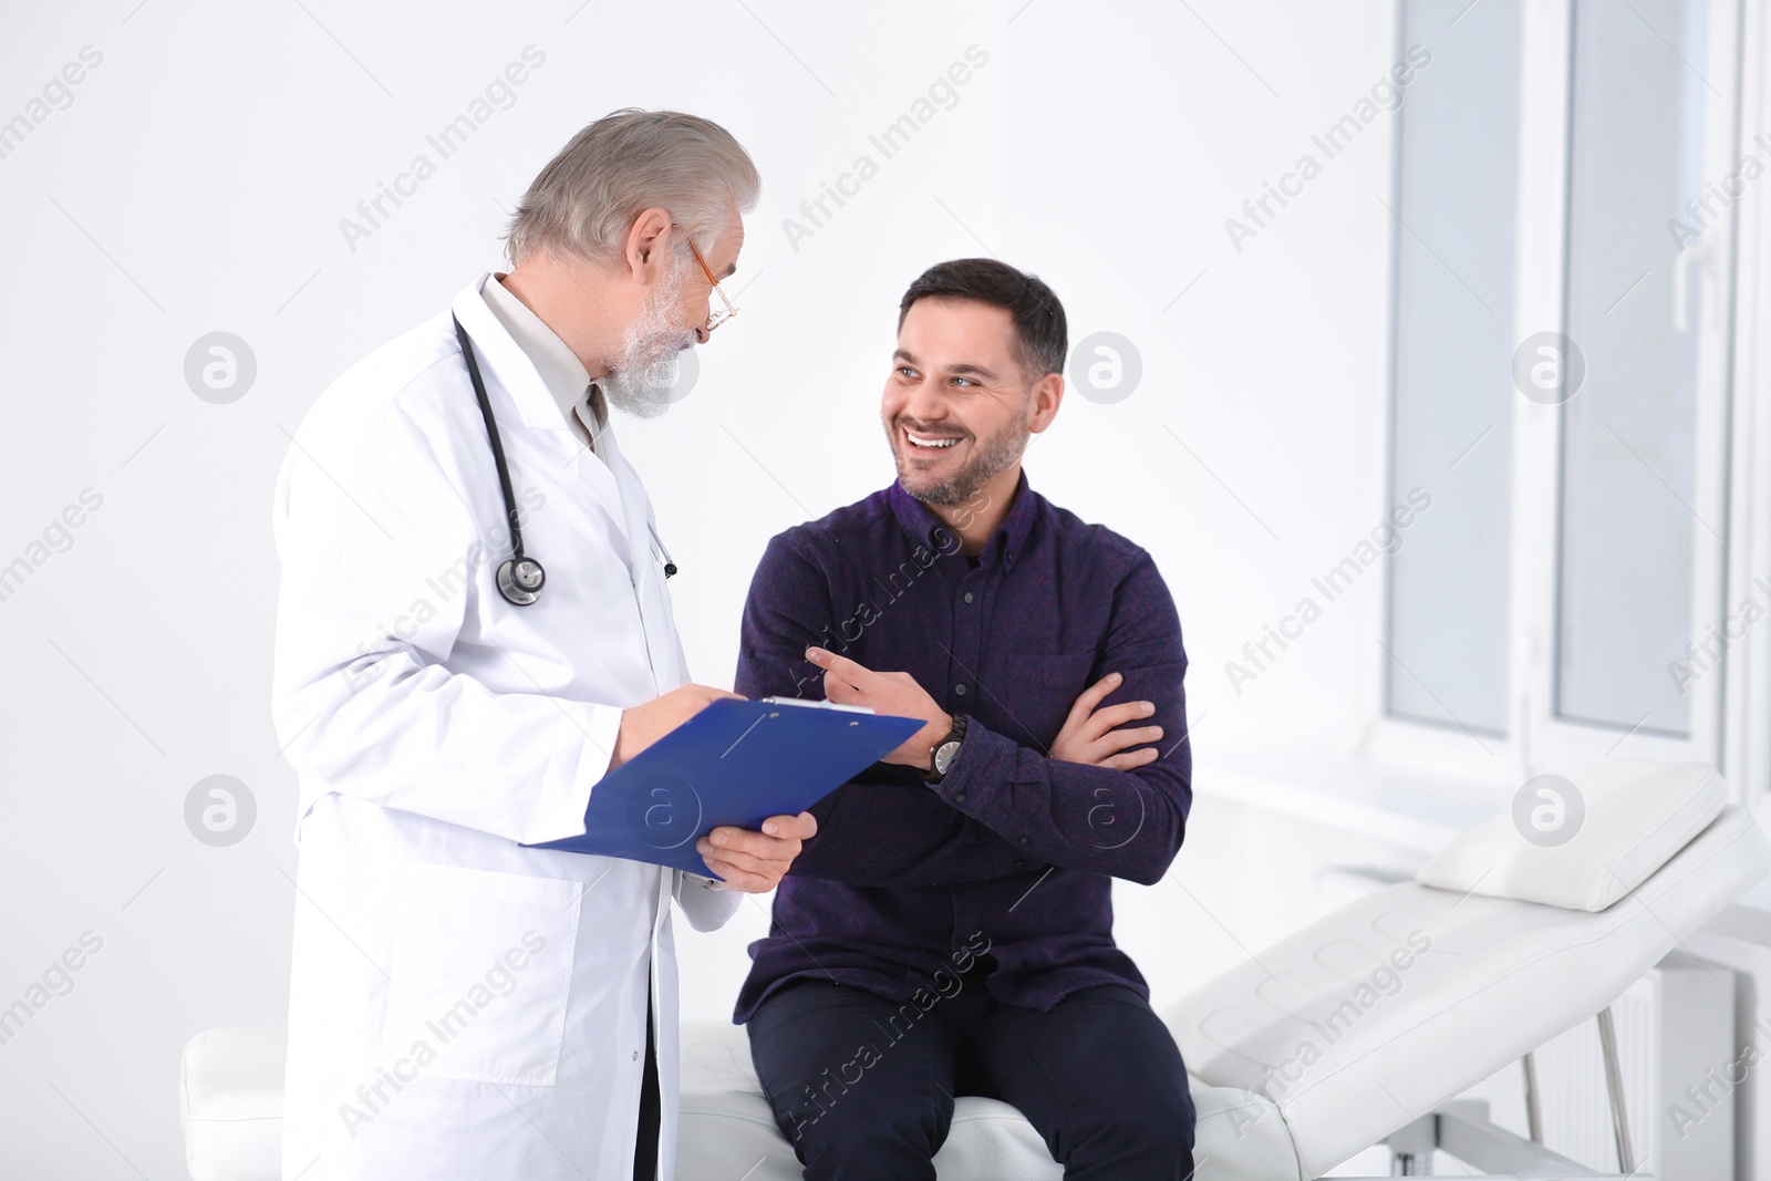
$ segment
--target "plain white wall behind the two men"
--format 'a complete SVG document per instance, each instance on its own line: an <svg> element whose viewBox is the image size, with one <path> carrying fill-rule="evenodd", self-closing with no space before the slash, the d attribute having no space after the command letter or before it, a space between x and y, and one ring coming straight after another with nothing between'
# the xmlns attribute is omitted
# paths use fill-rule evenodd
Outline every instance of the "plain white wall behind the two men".
<svg viewBox="0 0 1771 1181"><path fill-rule="evenodd" d="M731 682L765 540L891 480L875 411L903 287L995 253L1056 287L1073 340L1107 329L1141 352L1137 391L1073 397L1027 467L1155 552L1194 660L1197 758L1272 735L1344 747L1371 715L1376 574L1241 694L1224 662L1387 508L1385 120L1240 251L1224 220L1388 67L1388 4L136 4L0 18L0 120L83 46L103 55L0 158L0 563L83 489L103 496L0 602L0 1006L81 933L103 938L0 1045L0 1172L182 1176L179 1046L282 1020L294 776L266 696L287 432L496 267L501 209L615 106L714 117L765 179L744 313L687 402L620 427L682 565L698 678ZM545 62L515 103L351 250L340 218L531 44ZM988 60L951 110L795 250L783 220L972 44ZM228 405L182 375L218 329L259 367ZM186 830L211 774L257 800L232 848ZM1245 830L1197 823L1167 882L1121 892L1158 1002L1240 954L1218 912L1233 931L1222 869ZM682 933L685 1016L730 1013L765 926L760 903Z"/></svg>

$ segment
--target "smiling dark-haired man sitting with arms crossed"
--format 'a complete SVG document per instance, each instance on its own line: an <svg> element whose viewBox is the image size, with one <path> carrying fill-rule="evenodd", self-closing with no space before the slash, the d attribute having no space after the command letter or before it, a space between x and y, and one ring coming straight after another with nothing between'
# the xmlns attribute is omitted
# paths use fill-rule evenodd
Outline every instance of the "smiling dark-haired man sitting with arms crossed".
<svg viewBox="0 0 1771 1181"><path fill-rule="evenodd" d="M903 296L898 482L776 536L737 691L926 724L811 811L735 1020L806 1177L933 1177L953 1096L1013 1103L1066 1177L1181 1181L1179 1050L1112 940L1192 802L1162 575L1020 469L1064 393L1057 296L990 259Z"/></svg>

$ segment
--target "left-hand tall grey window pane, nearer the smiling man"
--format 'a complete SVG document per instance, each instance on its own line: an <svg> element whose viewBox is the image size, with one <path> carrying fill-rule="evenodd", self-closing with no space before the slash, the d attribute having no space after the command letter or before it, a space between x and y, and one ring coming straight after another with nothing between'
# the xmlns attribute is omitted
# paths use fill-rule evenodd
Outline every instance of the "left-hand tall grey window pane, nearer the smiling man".
<svg viewBox="0 0 1771 1181"><path fill-rule="evenodd" d="M1401 18L1397 60L1431 60L1397 112L1390 499L1431 508L1390 561L1385 703L1504 733L1520 5L1459 7Z"/></svg>

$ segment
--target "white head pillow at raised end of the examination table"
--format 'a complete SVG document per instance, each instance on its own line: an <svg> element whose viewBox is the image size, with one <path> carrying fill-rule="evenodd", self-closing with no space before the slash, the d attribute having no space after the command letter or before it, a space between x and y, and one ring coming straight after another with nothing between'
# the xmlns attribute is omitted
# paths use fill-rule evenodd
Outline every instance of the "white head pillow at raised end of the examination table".
<svg viewBox="0 0 1771 1181"><path fill-rule="evenodd" d="M1459 894L1605 910L1702 832L1728 795L1709 763L1606 760L1567 781L1574 793L1562 788L1562 800L1530 793L1518 809L1456 838L1415 880ZM1550 843L1557 829L1574 836Z"/></svg>

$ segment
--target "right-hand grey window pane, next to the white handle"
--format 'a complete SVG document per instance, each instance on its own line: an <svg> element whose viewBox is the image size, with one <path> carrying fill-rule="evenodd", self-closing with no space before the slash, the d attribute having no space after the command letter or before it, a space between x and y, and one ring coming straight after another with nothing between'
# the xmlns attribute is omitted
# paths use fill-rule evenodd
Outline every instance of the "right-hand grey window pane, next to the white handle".
<svg viewBox="0 0 1771 1181"><path fill-rule="evenodd" d="M1562 404L1555 706L1679 737L1690 682L1668 669L1693 660L1697 535L1720 544L1725 526L1697 506L1697 407L1725 379L1700 342L1728 320L1728 211L1682 209L1723 156L1709 140L1734 147L1734 99L1704 76L1716 16L1704 0L1574 5L1566 331L1585 379Z"/></svg>

